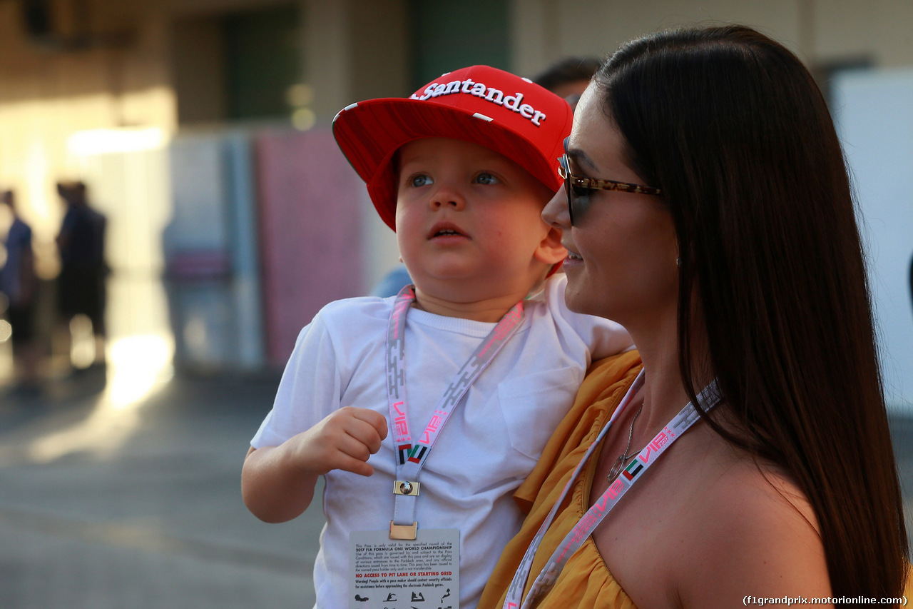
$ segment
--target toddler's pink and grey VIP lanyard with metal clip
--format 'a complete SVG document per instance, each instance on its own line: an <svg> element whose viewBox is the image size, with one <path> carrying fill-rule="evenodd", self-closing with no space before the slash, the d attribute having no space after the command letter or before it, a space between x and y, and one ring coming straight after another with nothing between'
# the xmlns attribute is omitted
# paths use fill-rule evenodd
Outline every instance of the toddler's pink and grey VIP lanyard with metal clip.
<svg viewBox="0 0 913 609"><path fill-rule="evenodd" d="M390 427L396 451L396 480L394 481L394 519L390 521L390 539L415 540L415 500L420 485L418 473L425 465L450 412L456 407L478 376L488 368L523 321L523 303L514 305L498 325L482 340L463 367L456 372L444 395L437 403L425 432L415 443L409 433L405 393L405 317L415 301L415 286L407 285L396 296L387 329L387 401L390 406Z"/></svg>

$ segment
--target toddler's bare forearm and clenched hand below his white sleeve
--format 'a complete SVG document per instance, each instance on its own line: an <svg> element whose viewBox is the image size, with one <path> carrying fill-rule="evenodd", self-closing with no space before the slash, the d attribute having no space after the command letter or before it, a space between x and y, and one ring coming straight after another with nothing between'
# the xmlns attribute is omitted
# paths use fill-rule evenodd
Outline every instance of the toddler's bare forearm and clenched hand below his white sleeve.
<svg viewBox="0 0 913 609"><path fill-rule="evenodd" d="M333 469L372 475L387 422L379 412L347 406L278 446L251 448L241 471L247 509L266 522L297 518L310 506L317 478Z"/></svg>

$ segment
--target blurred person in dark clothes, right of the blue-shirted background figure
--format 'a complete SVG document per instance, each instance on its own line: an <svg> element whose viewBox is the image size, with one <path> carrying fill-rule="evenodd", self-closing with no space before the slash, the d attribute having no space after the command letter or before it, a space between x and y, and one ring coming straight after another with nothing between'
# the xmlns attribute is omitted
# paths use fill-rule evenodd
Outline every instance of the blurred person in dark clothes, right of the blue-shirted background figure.
<svg viewBox="0 0 913 609"><path fill-rule="evenodd" d="M68 326L77 315L91 322L95 338L94 360L104 364L105 301L108 265L105 263L107 219L89 207L86 185L59 182L58 194L67 206L57 236L60 255L58 314Z"/></svg>

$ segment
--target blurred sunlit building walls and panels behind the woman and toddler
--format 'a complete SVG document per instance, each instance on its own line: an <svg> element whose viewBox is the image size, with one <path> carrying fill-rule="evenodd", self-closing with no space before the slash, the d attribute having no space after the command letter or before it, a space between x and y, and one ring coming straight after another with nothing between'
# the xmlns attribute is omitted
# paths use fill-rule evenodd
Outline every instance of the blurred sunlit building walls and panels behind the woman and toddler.
<svg viewBox="0 0 913 609"><path fill-rule="evenodd" d="M55 183L89 185L108 217L110 348L132 339L178 367L276 368L320 305L366 294L397 262L333 143L343 106L474 63L532 76L712 21L781 40L832 101L889 401L913 412L908 0L0 0L0 186L18 193L51 294Z"/></svg>

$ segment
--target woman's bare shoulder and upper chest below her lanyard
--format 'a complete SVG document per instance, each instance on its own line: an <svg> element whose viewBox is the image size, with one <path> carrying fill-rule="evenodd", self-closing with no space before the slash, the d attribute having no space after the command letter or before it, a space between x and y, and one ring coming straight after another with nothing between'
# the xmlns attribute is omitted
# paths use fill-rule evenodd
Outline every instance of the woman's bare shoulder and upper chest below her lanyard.
<svg viewBox="0 0 913 609"><path fill-rule="evenodd" d="M748 596L830 593L803 492L707 424L671 446L639 486L593 535L638 607L714 609L741 606Z"/></svg>

